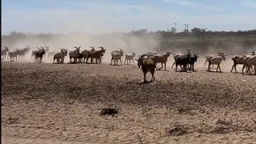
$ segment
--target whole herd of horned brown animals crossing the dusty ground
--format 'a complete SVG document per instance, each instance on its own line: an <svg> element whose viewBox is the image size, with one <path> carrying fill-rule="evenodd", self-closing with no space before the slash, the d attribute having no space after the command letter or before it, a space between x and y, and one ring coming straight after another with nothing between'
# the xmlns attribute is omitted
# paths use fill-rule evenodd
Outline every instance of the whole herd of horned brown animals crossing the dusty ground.
<svg viewBox="0 0 256 144"><path fill-rule="evenodd" d="M55 60L57 63L64 63L64 58L67 56L68 50L61 49L59 52L56 51L49 51L49 46L40 46L37 47L38 50L32 50L31 58L34 57L35 62L42 62L42 58L44 55L47 54L47 57L53 57L54 63ZM80 50L81 46L74 47L75 50L71 50L69 52L70 57L70 63L88 63L88 59L90 59L90 62L93 63L94 59L97 63L102 62L102 57L104 56L106 49L103 46L98 46L98 50L95 50L94 46L90 46L91 50ZM7 46L4 46L4 50L2 50L2 59L6 59L10 57L10 61L14 61L14 58L17 61L17 57L25 57L26 54L28 54L30 51L30 46L26 46L23 49L15 49L10 51ZM154 69L157 69L156 65L157 63L161 63L162 67L163 64L165 66L166 70L166 62L169 58L170 54L174 54L170 51L164 52L165 54L159 54L160 49L157 51L147 51L146 54L142 54L141 56L138 55L138 59L135 58L136 53L131 54L125 54L125 52L119 48L119 50L111 51L111 61L110 65L112 65L112 62L114 60L114 65L118 65L118 61L120 61L120 64L122 65L122 57L125 54L125 62L124 64L130 64L130 61L133 61L134 59L138 62L138 67L142 66L142 71L144 73L144 76L147 72L150 72L152 74L152 81L154 80ZM210 71L210 65L217 65L216 71L219 70L219 72L222 72L220 64L222 61L226 60L226 54L222 52L218 52L218 54L208 54L206 55L206 62L208 62L208 70ZM186 53L184 54L174 54L174 63L171 68L175 65L175 70L177 71L177 67L180 66L182 71L186 70L194 70L194 63L198 60L198 53L194 53L192 50L186 50ZM73 58L73 62L71 61ZM250 54L243 54L243 55L235 55L231 58L234 62L234 65L231 68L231 72L235 70L237 73L236 66L237 65L243 65L242 66L242 74L244 74L244 69L246 68L246 72L251 74L251 71L254 71L256 74L256 54L253 51L251 51ZM206 65L206 62L204 63L204 66ZM159 68L157 70L162 69Z"/></svg>

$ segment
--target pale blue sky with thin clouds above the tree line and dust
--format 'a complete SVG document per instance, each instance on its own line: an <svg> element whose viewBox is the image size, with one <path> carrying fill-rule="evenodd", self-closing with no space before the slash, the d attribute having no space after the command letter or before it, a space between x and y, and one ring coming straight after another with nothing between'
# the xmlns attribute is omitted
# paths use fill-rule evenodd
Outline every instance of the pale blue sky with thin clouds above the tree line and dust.
<svg viewBox="0 0 256 144"><path fill-rule="evenodd" d="M2 0L2 34L256 29L255 0Z"/></svg>

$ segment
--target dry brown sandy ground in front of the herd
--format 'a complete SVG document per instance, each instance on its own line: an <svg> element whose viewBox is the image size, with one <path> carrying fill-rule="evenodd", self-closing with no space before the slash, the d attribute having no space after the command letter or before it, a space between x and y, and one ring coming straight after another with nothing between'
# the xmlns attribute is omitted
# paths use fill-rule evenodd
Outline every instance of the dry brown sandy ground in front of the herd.
<svg viewBox="0 0 256 144"><path fill-rule="evenodd" d="M2 143L255 143L256 76L2 62ZM112 107L118 114L100 115ZM253 121L254 120L254 121Z"/></svg>

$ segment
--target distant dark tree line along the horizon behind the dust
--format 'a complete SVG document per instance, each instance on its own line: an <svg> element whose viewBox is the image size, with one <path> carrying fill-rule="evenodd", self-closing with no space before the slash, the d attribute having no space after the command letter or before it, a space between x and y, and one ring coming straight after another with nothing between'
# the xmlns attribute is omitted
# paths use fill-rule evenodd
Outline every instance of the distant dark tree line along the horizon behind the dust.
<svg viewBox="0 0 256 144"><path fill-rule="evenodd" d="M54 38L69 38L74 34L25 34L22 32L11 32L7 35L2 35L2 45L10 46L12 43L22 42L23 40L40 39L42 42L49 42ZM149 31L147 29L131 30L130 32L115 32L112 34L122 34L126 36L146 37L154 35L158 36L161 48L167 49L174 47L184 48L199 48L207 50L210 46L232 48L232 46L242 46L245 50L256 46L256 29L255 30L238 30L238 31L212 31L194 27L192 30L183 30L175 33L175 28L170 30ZM96 37L104 38L109 34L94 34ZM186 41L178 41L186 39Z"/></svg>

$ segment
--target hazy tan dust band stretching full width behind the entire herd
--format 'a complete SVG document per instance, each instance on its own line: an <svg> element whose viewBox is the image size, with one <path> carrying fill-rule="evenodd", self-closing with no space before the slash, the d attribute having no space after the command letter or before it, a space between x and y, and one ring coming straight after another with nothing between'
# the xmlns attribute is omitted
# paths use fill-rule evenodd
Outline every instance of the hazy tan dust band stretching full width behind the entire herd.
<svg viewBox="0 0 256 144"><path fill-rule="evenodd" d="M161 42L169 42L169 44L162 44ZM194 46L194 43L209 41L208 46ZM38 35L30 35L29 37L23 38L22 40L15 40L9 43L3 42L4 46L9 46L10 50L14 48L23 48L30 46L32 50L36 50L38 46L50 46L50 51L60 51L60 48L67 49L68 51L74 50L74 46L82 46L81 50L90 50L89 46L95 46L96 50L98 46L104 46L106 54L102 59L102 63L110 63L110 52L112 50L118 50L121 48L125 51L125 54L131 54L132 52L138 54L145 54L148 50L161 49L159 54L164 54L165 51L171 51L174 54L182 54L186 49L191 49L195 53L198 52L198 62L195 64L195 68L202 68L206 60L206 54L217 54L217 51L222 51L228 55L228 59L222 62L222 71L230 71L233 61L231 57L235 54L249 54L251 50L254 50L254 46L246 46L243 44L244 40L232 39L232 38L215 38L198 40L195 38L163 38L160 34L127 34L127 33L112 33L112 34L86 34L86 33L74 33L69 35L53 35L47 36L46 38L38 37ZM222 43L221 45L219 43ZM26 54L26 58L18 58L18 62L34 62L34 58L31 59L31 51ZM256 50L255 50L256 51ZM173 54L167 62L167 67L170 68L174 62ZM69 62L70 58L67 56L65 62ZM122 58L122 64L125 61L125 57ZM52 57L44 56L43 62L53 62ZM90 62L90 61L89 61ZM206 64L207 66L207 64ZM238 66L238 70L241 66Z"/></svg>

